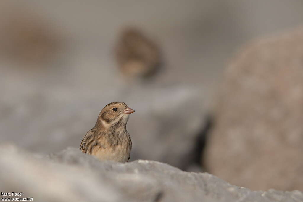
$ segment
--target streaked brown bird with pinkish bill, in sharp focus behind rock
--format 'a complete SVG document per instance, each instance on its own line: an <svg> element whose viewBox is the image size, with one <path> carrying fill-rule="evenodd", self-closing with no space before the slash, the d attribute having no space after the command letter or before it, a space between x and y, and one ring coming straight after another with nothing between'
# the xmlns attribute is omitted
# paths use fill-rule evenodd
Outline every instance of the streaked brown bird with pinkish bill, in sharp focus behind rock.
<svg viewBox="0 0 303 202"><path fill-rule="evenodd" d="M84 136L80 150L100 160L127 162L132 140L126 130L129 114L135 110L125 103L112 102L100 112L96 125Z"/></svg>

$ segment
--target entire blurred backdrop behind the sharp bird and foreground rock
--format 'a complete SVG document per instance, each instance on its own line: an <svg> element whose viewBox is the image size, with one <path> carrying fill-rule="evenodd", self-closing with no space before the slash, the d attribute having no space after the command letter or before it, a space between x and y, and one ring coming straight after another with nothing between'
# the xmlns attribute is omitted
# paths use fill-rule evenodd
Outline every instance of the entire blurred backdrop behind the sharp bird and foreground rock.
<svg viewBox="0 0 303 202"><path fill-rule="evenodd" d="M302 1L0 2L0 140L79 147L122 101L131 160L302 190Z"/></svg>

